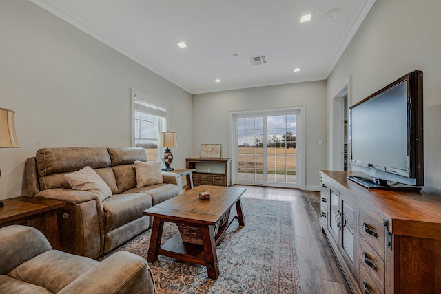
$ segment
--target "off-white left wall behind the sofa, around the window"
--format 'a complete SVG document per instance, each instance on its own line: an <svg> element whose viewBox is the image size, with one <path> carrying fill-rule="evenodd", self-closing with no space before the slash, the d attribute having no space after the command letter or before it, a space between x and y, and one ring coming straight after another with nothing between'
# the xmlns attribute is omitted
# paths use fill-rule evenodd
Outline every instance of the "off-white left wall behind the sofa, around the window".
<svg viewBox="0 0 441 294"><path fill-rule="evenodd" d="M0 149L0 199L25 195L41 147L129 147L130 88L170 102L174 167L192 156L192 95L25 0L1 1L0 107L21 148Z"/></svg>

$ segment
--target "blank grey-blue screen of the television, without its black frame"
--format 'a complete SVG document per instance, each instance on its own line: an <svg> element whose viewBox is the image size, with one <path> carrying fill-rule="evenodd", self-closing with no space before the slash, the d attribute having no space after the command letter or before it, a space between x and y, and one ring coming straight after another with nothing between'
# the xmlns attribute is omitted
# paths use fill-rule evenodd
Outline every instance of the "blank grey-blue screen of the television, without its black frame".
<svg viewBox="0 0 441 294"><path fill-rule="evenodd" d="M409 173L405 82L353 108L351 127L352 158Z"/></svg>

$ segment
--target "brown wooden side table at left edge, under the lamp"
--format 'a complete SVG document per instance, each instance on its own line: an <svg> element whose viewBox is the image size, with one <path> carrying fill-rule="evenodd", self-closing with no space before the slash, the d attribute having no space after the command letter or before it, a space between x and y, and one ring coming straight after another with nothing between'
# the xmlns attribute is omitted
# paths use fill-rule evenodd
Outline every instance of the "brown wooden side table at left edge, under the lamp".
<svg viewBox="0 0 441 294"><path fill-rule="evenodd" d="M2 200L3 207L0 207L0 227L10 224L26 224L28 220L44 218L46 238L48 238L53 249L60 249L58 235L57 209L65 206L65 202L19 196Z"/></svg>

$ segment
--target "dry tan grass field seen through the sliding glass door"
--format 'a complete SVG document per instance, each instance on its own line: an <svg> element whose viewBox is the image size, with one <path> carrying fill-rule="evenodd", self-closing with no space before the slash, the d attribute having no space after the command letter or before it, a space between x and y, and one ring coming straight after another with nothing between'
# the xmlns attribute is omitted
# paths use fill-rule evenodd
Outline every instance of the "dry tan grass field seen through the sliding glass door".
<svg viewBox="0 0 441 294"><path fill-rule="evenodd" d="M263 148L238 147L239 173L263 174ZM267 174L296 174L296 148L267 148Z"/></svg>

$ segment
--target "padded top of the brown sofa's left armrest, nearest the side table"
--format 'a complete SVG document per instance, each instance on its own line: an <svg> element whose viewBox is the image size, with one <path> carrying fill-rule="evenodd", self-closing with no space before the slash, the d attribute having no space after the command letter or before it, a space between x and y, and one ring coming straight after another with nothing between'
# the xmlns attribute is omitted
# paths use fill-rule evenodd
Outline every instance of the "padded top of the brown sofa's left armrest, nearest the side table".
<svg viewBox="0 0 441 294"><path fill-rule="evenodd" d="M34 197L47 198L52 200L64 201L66 204L80 204L90 200L96 200L98 196L88 191L72 190L72 189L47 189L35 194Z"/></svg>

